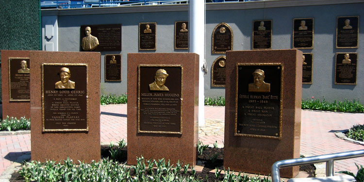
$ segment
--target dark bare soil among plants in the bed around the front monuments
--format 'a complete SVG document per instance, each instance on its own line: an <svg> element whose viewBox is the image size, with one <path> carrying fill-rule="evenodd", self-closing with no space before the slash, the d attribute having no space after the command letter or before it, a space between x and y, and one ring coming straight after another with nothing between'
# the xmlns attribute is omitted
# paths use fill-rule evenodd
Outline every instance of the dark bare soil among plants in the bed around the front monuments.
<svg viewBox="0 0 364 182"><path fill-rule="evenodd" d="M101 158L111 159L111 154L109 152L109 147L101 147ZM113 149L117 149L113 147ZM204 163L204 167L201 172L196 172L195 179L201 180L201 182L213 182L215 180L222 181L224 175L220 175L218 179L216 179L214 173L210 173L211 170L214 170L216 167L218 169L223 168L224 163L224 149L220 148L206 148L202 155L198 156L198 160ZM127 161L127 147L122 148L120 150L120 154L116 158L119 163L126 163ZM310 176L315 177L315 167L314 165L302 165L299 166L299 171L306 171ZM191 171L188 171L187 174L182 174L182 176L192 175ZM208 179L208 181L206 181ZM24 182L24 178L20 176L18 172L12 174L10 182Z"/></svg>

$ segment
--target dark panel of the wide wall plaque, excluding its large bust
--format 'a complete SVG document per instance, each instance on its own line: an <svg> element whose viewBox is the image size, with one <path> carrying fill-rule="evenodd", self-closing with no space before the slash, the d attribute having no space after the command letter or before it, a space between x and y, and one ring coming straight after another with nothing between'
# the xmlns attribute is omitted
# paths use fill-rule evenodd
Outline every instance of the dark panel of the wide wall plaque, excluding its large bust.
<svg viewBox="0 0 364 182"><path fill-rule="evenodd" d="M93 51L109 51L109 50L120 50L121 51L121 24L105 24L105 25L82 25L81 26L81 50L83 50L82 43L86 43L86 27L91 28L91 35L96 37L99 46ZM92 39L95 39L92 37ZM84 39L84 40L83 40ZM94 40L95 41L95 40ZM92 44L92 43L91 43ZM92 47L92 46L91 46ZM89 50L83 50L89 51Z"/></svg>

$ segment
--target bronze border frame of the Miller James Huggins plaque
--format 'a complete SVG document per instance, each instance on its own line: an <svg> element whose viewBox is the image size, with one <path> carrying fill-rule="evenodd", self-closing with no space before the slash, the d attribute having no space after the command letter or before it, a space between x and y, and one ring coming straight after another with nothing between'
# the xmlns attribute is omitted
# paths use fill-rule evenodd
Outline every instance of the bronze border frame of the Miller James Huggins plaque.
<svg viewBox="0 0 364 182"><path fill-rule="evenodd" d="M180 116L180 121L181 121L181 126L180 126L180 132L161 132L161 131L141 131L140 130L140 67L180 67L181 68L181 116ZM182 114L183 114L183 65L138 65L138 95L137 95L137 133L157 133L157 134L181 134L182 135L182 131L183 131L183 119L182 119Z"/></svg>

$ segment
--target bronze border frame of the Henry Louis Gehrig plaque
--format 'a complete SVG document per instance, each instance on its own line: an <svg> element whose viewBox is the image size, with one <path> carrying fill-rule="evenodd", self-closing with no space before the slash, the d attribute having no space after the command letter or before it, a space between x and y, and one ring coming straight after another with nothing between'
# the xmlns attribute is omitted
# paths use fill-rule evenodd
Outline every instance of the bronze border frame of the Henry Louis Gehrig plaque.
<svg viewBox="0 0 364 182"><path fill-rule="evenodd" d="M85 66L86 67L86 129L45 129L44 121L44 66ZM89 131L89 120L88 115L88 64L84 63L42 63L41 65L42 74L42 132L88 132Z"/></svg>

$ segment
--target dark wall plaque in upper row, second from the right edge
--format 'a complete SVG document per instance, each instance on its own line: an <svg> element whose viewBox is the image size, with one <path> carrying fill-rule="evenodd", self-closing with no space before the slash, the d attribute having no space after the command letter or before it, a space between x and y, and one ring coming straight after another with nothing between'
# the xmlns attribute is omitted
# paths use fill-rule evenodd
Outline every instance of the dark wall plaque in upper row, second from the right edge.
<svg viewBox="0 0 364 182"><path fill-rule="evenodd" d="M314 48L314 18L293 19L293 48Z"/></svg>

